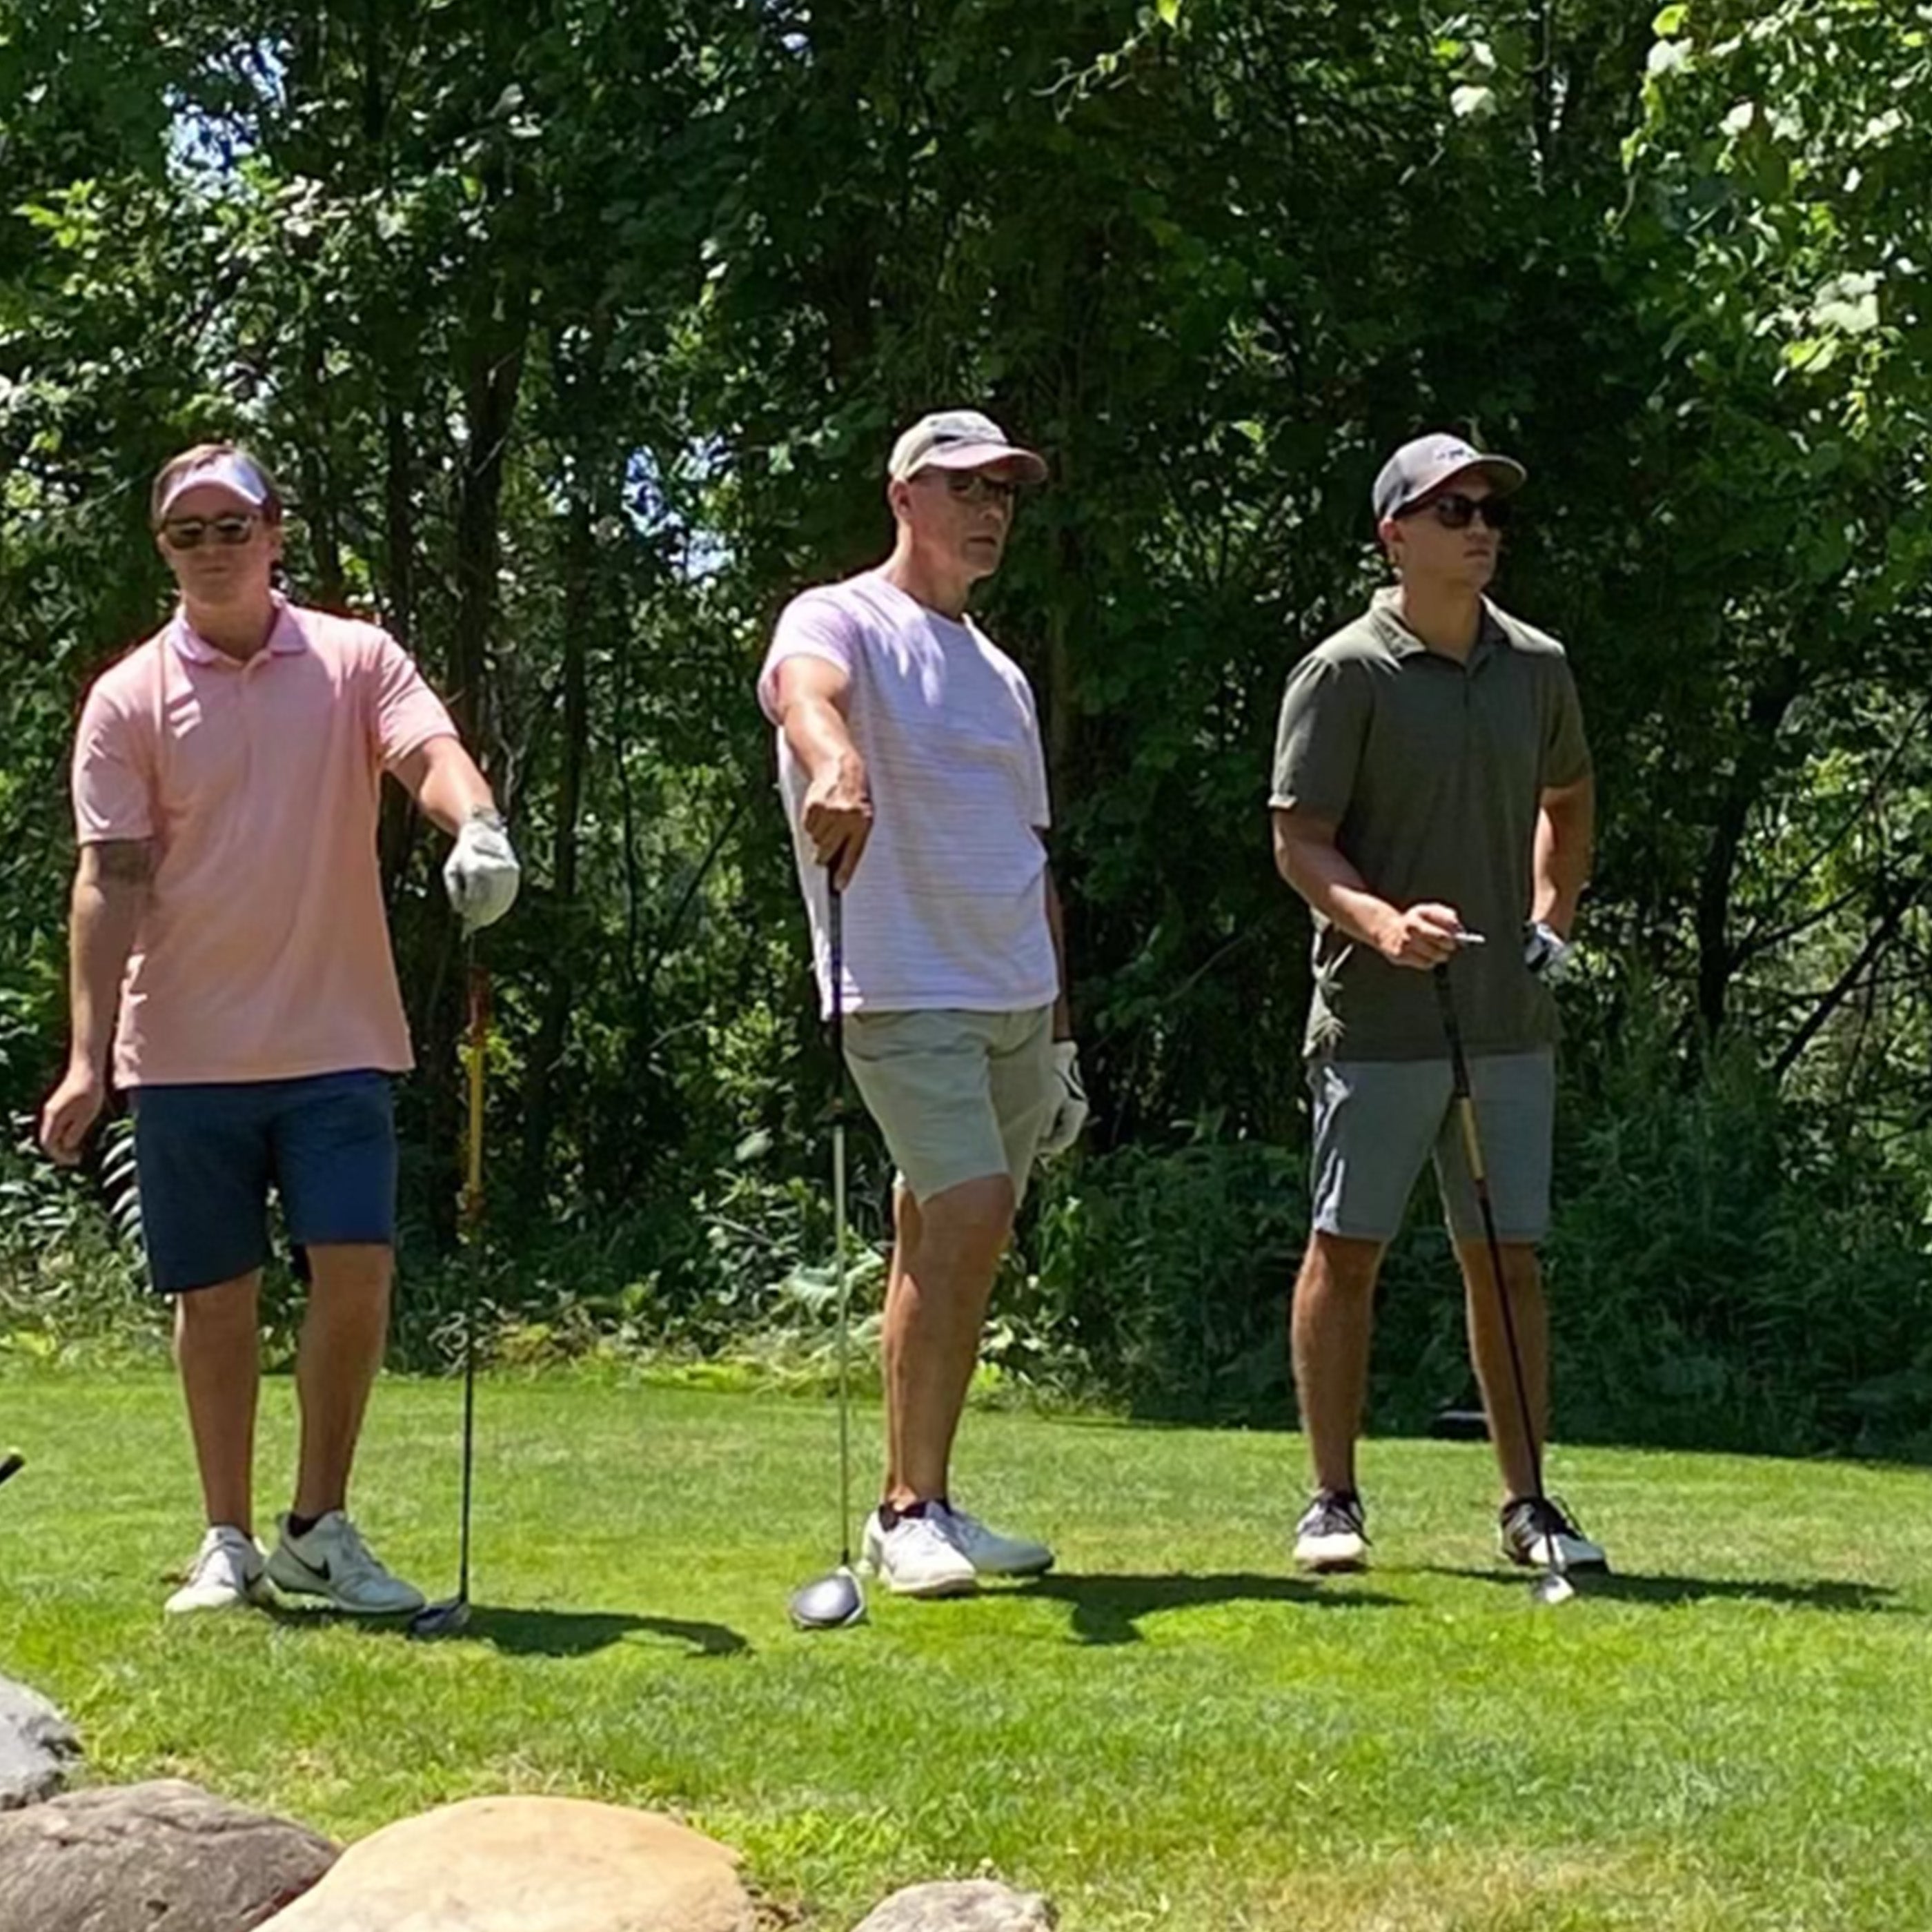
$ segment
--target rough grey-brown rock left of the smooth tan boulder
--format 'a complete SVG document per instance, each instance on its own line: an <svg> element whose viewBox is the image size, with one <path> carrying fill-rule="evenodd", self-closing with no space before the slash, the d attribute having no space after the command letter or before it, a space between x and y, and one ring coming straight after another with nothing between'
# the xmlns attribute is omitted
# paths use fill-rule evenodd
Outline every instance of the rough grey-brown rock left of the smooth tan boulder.
<svg viewBox="0 0 1932 1932"><path fill-rule="evenodd" d="M6 1932L251 1932L334 1864L301 1826L176 1779L0 1818Z"/></svg>

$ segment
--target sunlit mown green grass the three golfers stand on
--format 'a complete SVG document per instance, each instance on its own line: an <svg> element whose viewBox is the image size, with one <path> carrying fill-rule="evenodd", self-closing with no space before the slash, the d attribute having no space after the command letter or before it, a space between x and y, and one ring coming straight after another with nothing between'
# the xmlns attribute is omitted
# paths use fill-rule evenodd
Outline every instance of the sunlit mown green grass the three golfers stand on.
<svg viewBox="0 0 1932 1932"><path fill-rule="evenodd" d="M269 1497L290 1412L272 1381ZM359 1517L431 1594L456 1414L390 1381L363 1457ZM172 1385L0 1378L31 1457L0 1492L0 1669L97 1777L338 1837L502 1789L668 1804L815 1932L978 1870L1068 1932L1932 1924L1924 1472L1559 1453L1623 1575L1540 1609L1492 1563L1480 1447L1372 1443L1378 1567L1312 1586L1294 1437L980 1414L966 1499L1061 1573L804 1636L827 1406L558 1378L487 1385L481 1430L469 1638L166 1627L197 1528Z"/></svg>

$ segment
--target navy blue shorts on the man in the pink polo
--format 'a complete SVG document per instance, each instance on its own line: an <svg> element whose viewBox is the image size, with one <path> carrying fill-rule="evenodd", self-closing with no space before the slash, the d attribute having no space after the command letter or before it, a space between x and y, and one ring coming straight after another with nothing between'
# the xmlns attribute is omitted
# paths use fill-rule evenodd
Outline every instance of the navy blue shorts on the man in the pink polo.
<svg viewBox="0 0 1932 1932"><path fill-rule="evenodd" d="M149 1283L182 1294L269 1260L269 1188L299 1248L396 1240L383 1072L143 1086L131 1095Z"/></svg>

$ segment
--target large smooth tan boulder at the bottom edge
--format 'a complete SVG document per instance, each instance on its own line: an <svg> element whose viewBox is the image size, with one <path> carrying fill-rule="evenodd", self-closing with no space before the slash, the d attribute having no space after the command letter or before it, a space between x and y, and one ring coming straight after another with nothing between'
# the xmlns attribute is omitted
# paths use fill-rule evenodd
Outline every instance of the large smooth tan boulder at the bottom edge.
<svg viewBox="0 0 1932 1932"><path fill-rule="evenodd" d="M274 1932L755 1926L734 1851L655 1812L583 1799L469 1799L404 1818L352 1845L274 1920Z"/></svg>

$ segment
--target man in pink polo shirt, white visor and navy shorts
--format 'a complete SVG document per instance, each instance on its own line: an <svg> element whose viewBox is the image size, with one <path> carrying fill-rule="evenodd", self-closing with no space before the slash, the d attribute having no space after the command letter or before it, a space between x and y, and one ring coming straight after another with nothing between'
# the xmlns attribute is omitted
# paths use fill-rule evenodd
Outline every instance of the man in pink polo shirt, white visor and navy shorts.
<svg viewBox="0 0 1932 1932"><path fill-rule="evenodd" d="M79 1157L112 1047L209 1519L168 1609L257 1602L267 1578L396 1615L421 1592L346 1513L388 1333L390 1076L412 1065L377 867L383 773L456 837L444 881L468 925L510 910L516 856L396 641L276 593L282 502L259 464L230 444L187 450L155 479L151 516L182 601L81 713L73 1039L41 1140ZM311 1287L294 1507L265 1561L253 1455L270 1186Z"/></svg>

